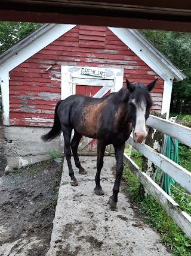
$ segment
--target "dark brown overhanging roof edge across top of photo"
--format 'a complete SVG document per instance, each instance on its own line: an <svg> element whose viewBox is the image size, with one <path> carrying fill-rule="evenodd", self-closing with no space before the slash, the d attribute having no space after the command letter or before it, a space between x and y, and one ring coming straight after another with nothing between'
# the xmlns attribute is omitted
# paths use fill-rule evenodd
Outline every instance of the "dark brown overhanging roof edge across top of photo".
<svg viewBox="0 0 191 256"><path fill-rule="evenodd" d="M191 32L191 2L1 0L0 20Z"/></svg>

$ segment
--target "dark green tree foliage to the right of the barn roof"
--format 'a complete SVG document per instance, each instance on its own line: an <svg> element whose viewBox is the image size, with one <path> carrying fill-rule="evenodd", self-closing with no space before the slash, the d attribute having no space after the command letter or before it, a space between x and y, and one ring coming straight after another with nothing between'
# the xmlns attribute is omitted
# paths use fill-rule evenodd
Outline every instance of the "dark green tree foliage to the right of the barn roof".
<svg viewBox="0 0 191 256"><path fill-rule="evenodd" d="M154 46L187 76L172 87L171 111L191 112L191 34L171 31L141 31Z"/></svg>

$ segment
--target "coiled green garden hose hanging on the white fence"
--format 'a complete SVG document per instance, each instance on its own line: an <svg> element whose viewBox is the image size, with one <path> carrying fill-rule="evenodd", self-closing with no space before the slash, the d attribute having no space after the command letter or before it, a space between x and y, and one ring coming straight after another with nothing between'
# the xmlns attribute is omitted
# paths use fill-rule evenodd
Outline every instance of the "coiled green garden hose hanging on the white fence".
<svg viewBox="0 0 191 256"><path fill-rule="evenodd" d="M165 155L168 158L170 158L172 161L178 163L178 141L164 134L164 141L162 143L161 153L162 155ZM158 180L158 171L159 171L159 168L156 169L153 180L156 183L158 183L158 185L160 185L161 188L168 195L171 195L171 183L175 184L174 180L162 170Z"/></svg>

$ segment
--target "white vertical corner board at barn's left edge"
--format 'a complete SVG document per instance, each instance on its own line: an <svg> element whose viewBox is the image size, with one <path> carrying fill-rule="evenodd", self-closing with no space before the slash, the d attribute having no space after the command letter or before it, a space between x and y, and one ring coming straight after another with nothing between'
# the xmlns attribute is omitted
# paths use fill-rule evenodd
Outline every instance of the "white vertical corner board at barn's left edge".
<svg viewBox="0 0 191 256"><path fill-rule="evenodd" d="M9 73L0 73L1 93L2 93L2 116L3 124L10 125L10 97L9 97Z"/></svg>

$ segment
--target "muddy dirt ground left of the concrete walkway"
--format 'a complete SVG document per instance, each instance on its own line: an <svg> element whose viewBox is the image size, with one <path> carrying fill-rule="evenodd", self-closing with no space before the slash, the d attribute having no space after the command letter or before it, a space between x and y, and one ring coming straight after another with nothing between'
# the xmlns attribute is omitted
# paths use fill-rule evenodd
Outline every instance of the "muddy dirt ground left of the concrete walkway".
<svg viewBox="0 0 191 256"><path fill-rule="evenodd" d="M45 161L4 175L0 126L0 255L44 256L49 249L62 163Z"/></svg>

